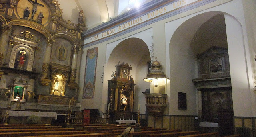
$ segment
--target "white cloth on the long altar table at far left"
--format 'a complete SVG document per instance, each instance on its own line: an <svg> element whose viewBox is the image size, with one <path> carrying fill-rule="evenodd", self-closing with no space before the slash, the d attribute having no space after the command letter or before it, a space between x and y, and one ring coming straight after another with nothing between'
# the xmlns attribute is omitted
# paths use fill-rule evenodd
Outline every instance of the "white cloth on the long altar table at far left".
<svg viewBox="0 0 256 137"><path fill-rule="evenodd" d="M54 117L55 120L57 119L56 112L31 112L31 111L9 111L9 117L29 117L31 115L36 115L38 117Z"/></svg>

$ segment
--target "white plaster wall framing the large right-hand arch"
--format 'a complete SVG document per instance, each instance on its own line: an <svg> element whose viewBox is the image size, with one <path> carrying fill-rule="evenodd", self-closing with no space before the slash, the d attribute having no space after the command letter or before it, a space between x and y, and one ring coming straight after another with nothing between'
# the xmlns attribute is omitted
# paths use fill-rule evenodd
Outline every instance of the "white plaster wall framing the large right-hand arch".
<svg viewBox="0 0 256 137"><path fill-rule="evenodd" d="M230 63L234 115L235 116L255 116L255 114L252 113L252 111L254 111L254 109L255 109L255 108L252 108L252 104L255 104L255 101L254 101L255 97L250 95L250 85L253 83L253 80L252 80L252 76L251 76L252 72L249 67L251 63L250 63L250 61L248 61L248 59L246 59L246 58L248 58L247 56L249 56L250 53L248 52L248 42L247 42L247 35L246 35L247 32L246 32L246 24L245 24L245 20L244 20L242 0L233 0L233 1L227 2L225 4L221 4L219 1L216 1L216 2L212 2L210 4L207 4L205 6L202 6L200 8L203 9L203 7L213 6L215 4L217 6L215 6L213 8L209 7L206 10L203 10L203 11L197 12L195 14L185 16L184 18L180 18L178 20L174 20L172 22L166 23L166 49L167 49L166 54L168 54L168 51L171 50L171 49L169 49L168 44L170 43L170 39L172 38L173 32L185 20L188 20L196 15L202 14L204 12L209 12L209 11L213 11L213 13L216 11L223 12L225 14L225 20L228 20L228 18L226 18L227 16L231 16L230 18L232 18L233 20L232 21L230 20L228 22L228 25L233 24L233 23L240 24L240 27L239 27L239 25L232 25L232 27L230 27L230 29L227 30L227 33L230 34L230 37L228 37L229 53L230 53L230 55L234 54L234 55L237 55L237 57L240 57L239 59L238 58L232 59L232 57L230 57L230 61L234 60L234 62L236 62L234 64ZM221 5L219 5L219 4L221 4ZM236 7L236 8L226 8L226 7ZM240 7L240 8L238 8L238 7ZM237 28L238 30L234 29L234 28ZM238 38L238 36L240 36L240 37ZM236 42L231 42L231 41L236 41ZM172 55L167 55L166 59L169 60L169 57L171 59ZM168 64L169 62L170 61L166 61L167 67L171 66ZM171 69L172 68L170 68L170 70ZM168 72L167 72L167 74L168 74ZM168 74L168 75L171 77L170 74ZM170 84L172 84L172 83L170 83ZM172 91L172 89L170 89L170 90ZM240 102L240 100L244 100L244 102ZM242 110L241 108L248 108L248 109ZM170 108L170 111L172 109L173 108Z"/></svg>

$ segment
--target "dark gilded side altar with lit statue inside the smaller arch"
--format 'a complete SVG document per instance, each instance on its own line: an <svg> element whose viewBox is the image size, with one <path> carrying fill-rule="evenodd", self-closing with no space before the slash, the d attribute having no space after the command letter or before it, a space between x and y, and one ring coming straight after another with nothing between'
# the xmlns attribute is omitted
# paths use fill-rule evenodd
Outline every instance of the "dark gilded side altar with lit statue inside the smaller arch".
<svg viewBox="0 0 256 137"><path fill-rule="evenodd" d="M116 120L137 120L134 112L134 80L130 71L131 65L122 62L116 65L116 73L108 80L108 112L109 123Z"/></svg>

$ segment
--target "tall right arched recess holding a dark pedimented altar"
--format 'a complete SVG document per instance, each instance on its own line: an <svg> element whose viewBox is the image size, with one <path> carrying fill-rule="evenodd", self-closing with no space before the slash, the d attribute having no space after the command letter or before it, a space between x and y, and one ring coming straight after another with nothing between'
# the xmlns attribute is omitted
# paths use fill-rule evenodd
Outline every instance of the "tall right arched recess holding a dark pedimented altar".
<svg viewBox="0 0 256 137"><path fill-rule="evenodd" d="M186 111L178 110L178 104L172 103L174 105L170 106L170 114L193 115L200 113L200 108L197 106L199 101L204 103L201 109L203 119L206 115L211 115L209 119L211 121L218 119L218 116L215 115L217 112L212 111L214 106L211 106L210 102L206 102L206 100L214 100L210 98L210 92L228 92L225 95L232 104L231 83L228 86L219 84L215 88L213 88L214 85L202 88L194 84L198 81L192 82L192 80L208 78L209 84L210 80L217 77L229 77L227 79L230 80L228 53L226 53L227 58L224 55L220 57L222 51L228 51L228 44L225 18L221 12L199 14L186 20L176 29L170 41L170 103L178 102L178 92L184 92L187 94L188 107ZM214 52L216 53L214 54ZM206 54L209 56L206 57ZM212 70L209 63L215 60L222 63L221 67L226 65L226 69L219 67L219 69ZM224 73L228 74L221 75ZM207 77L206 74L209 76ZM202 91L202 100L197 100L197 90ZM229 108L232 108L232 105L229 105Z"/></svg>

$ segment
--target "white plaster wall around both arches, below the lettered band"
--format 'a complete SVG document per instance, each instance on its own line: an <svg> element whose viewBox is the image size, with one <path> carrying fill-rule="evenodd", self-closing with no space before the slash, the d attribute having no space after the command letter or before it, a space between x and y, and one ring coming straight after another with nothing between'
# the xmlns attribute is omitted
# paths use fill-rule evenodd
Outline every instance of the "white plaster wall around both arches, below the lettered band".
<svg viewBox="0 0 256 137"><path fill-rule="evenodd" d="M227 7L235 7L235 8L227 8ZM154 57L158 57L158 61L160 61L160 63L162 64L162 67L164 68L164 72L166 73L166 75L172 77L170 75L170 71L169 71L169 70L171 70L171 68L170 68L170 59L172 58L172 56L169 53L170 52L169 43L170 43L170 39L172 38L173 33L180 26L180 24L182 24L186 20L188 20L188 19L190 19L194 16L197 16L199 14L205 13L205 12L211 12L211 13L208 14L208 16L206 16L206 19L204 19L204 18L200 19L202 23L203 23L202 20L207 20L207 18L210 18L213 15L216 15L218 13L224 13L225 16L230 15L231 17L236 19L237 23L238 22L240 23L240 27L242 29L242 32L238 32L238 31L228 32L228 33L234 32L232 34L233 36L237 35L237 34L242 35L242 39L240 39L238 41L239 43L242 42L244 44L244 49L241 49L239 51L239 53L242 52L242 54L244 54L244 56L242 56L243 59L239 59L239 62L242 63L242 66L236 66L236 65L234 65L234 63L230 63L230 67L232 69L235 69L235 68L240 69L241 68L242 72L245 74L245 76L244 75L243 76L246 77L246 78L242 78L241 80L246 80L246 81L243 81L243 82L247 83L247 85L243 84L243 89L244 90L240 91L239 86L240 86L240 82L242 82L242 81L241 80L234 81L234 79L233 79L233 78L238 77L239 74L232 73L232 76L231 76L231 77L233 77L232 78L232 87L234 86L233 91L234 91L234 93L236 93L236 94L233 94L234 115L235 116L255 116L255 114L252 114L252 112L254 112L254 110L252 110L252 109L255 109L255 108L250 108L250 106L252 106L252 104L256 104L256 103L253 100L254 96L250 95L250 90L252 90L252 89L250 89L252 87L250 85L253 84L253 80L252 80L252 72L250 72L251 70L248 69L248 68L251 68L251 63L250 63L250 61L247 60L247 56L250 55L250 53L248 52L249 51L248 50L248 42L246 42L248 33L246 31L246 24L245 24L245 19L244 19L242 0L217 0L215 2L211 2L210 4L206 4L204 6L200 6L199 8L195 8L195 9L189 10L187 12L183 12L181 14L178 14L178 15L172 16L170 18L161 20L159 22L150 24L146 27L142 27L142 28L137 29L133 32L122 35L120 37L116 37L116 38L111 39L109 41L105 41L105 42L102 42L100 44L92 46L92 47L99 46L99 55L103 54L101 56L101 58L98 57L97 76L99 76L99 77L96 77L96 83L97 83L96 87L97 87L97 89L101 89L103 91L107 90L107 84L104 83L102 85L101 81L100 81L100 73L103 72L103 68L98 70L98 66L104 65L108 61L110 53L114 49L114 47L116 45L118 45L118 43L120 43L120 41L122 41L123 39L127 39L128 37L130 37L132 35L136 35L137 33L140 33L142 31L146 31L147 29L150 29L150 28L153 29L152 35L154 35L154 41L153 41L153 43L154 43ZM196 24L197 20L194 20L194 23ZM182 35L181 35L181 37L182 37ZM142 37L140 37L140 39L143 40ZM232 38L232 39L234 39L234 38ZM232 41L232 39L230 39L230 37L229 37L228 41ZM186 41L187 39L184 39L184 40ZM148 40L143 40L143 41L145 41L147 43L147 45L150 45L152 40L149 42L149 38L148 38ZM89 48L86 48L86 49L90 49L92 47L89 47ZM233 45L229 44L228 48L229 48L230 52L232 53L233 52L232 49L235 49L237 47L235 45L233 46ZM86 49L84 49L84 51ZM166 51L164 52L164 50L166 50ZM82 66L85 66L86 53L84 53L84 54L85 55L82 55L82 60L81 60L81 71L80 71L81 75L84 75L84 68ZM104 55L106 55L106 56L104 56ZM192 56L192 53L190 53L189 56ZM239 56L241 56L241 55L239 55ZM192 61L192 59L191 60L186 59L185 56L182 57L179 60L180 61ZM194 65L196 65L196 64L194 64ZM178 66L179 67L186 67L186 66L182 66L182 65L178 65ZM186 71L186 70L184 70L184 71ZM196 71L194 67L192 68L192 71ZM106 82L106 80L108 80L110 78L109 74L106 74L106 73L110 73L110 72L106 72L106 69L104 70L104 82ZM191 74L194 74L194 76L190 75L189 79L191 79L191 77L195 78L196 72L191 73ZM182 75L182 76L185 76L185 75ZM83 81L83 78L80 78L80 80ZM186 80L188 80L188 79L186 79ZM172 84L172 82L170 82L170 84ZM170 86L170 84L169 83L167 84L167 89L168 89L168 87L172 87L172 86ZM180 84L179 86L182 87L184 85ZM83 85L80 85L80 87L83 87ZM189 87L192 87L192 85L190 85ZM182 88L182 91L183 90L186 90L186 88ZM172 89L167 90L166 94L170 95L171 94L170 91L172 91ZM244 92L242 94L242 96L240 95L241 92ZM105 92L100 91L100 93L102 94L102 93L105 93ZM189 92L189 94L187 94L187 96L192 96L189 100L192 100L192 102L194 104L196 104L197 103L197 101L196 101L196 96L197 96L196 95L196 90L194 90L194 94L191 94L191 93L192 92ZM245 95L245 96L243 96L243 95ZM107 95L102 94L102 97L103 96L106 97ZM95 101L93 101L93 102L94 103L99 102L99 100L97 100L97 99L98 98L95 98L94 99ZM243 100L244 104L240 104L241 100ZM170 101L170 99L169 99L169 101ZM175 101L174 103L177 103L177 101ZM106 104L106 98L102 98L102 104L104 104L104 105ZM172 102L170 102L170 106L172 106L172 105L173 105ZM95 106L92 106L92 107L95 108ZM191 111L191 112L186 113L186 114L191 115L191 114L196 113L196 105L193 105L191 107L192 107L191 109L195 109L195 111ZM249 107L249 108L241 109L241 108L244 108L244 107ZM103 110L106 107L102 105L101 108ZM172 108L170 107L170 112L172 112L171 109ZM143 110L141 110L141 111L143 111ZM178 112L178 114L183 114L183 113Z"/></svg>

